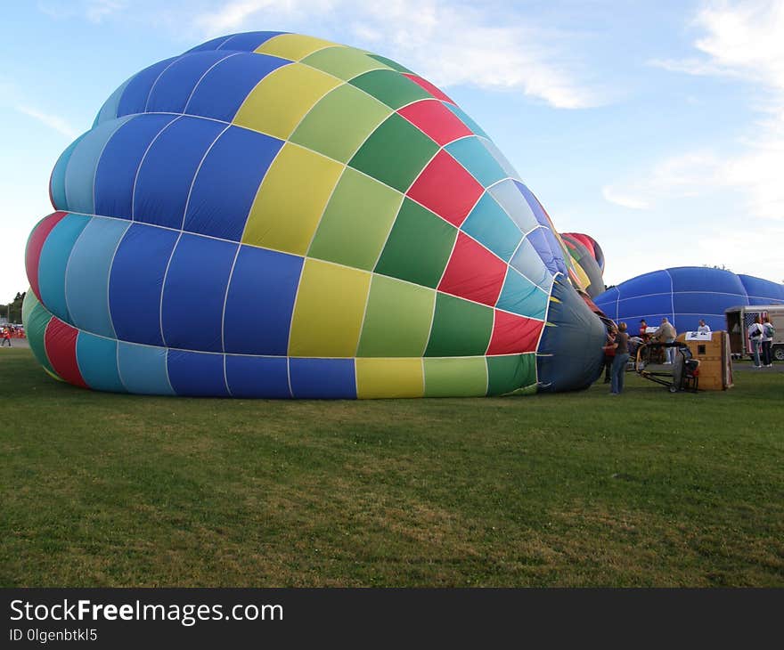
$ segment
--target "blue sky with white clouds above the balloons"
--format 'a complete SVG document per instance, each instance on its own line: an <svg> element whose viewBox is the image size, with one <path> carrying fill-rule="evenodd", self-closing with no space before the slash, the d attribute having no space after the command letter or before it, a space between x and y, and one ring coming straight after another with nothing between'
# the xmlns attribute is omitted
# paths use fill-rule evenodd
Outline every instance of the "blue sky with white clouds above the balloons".
<svg viewBox="0 0 784 650"><path fill-rule="evenodd" d="M0 0L0 305L47 183L110 93L224 34L388 56L443 88L605 282L710 265L784 281L784 0Z"/></svg>

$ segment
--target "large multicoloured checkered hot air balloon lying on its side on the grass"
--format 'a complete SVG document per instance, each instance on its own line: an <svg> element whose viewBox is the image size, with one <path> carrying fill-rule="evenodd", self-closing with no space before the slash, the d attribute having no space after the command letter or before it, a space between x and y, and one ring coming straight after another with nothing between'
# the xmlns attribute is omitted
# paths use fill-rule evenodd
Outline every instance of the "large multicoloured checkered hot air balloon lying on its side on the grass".
<svg viewBox="0 0 784 650"><path fill-rule="evenodd" d="M30 345L97 390L486 395L587 386L604 329L487 135L394 61L279 32L143 69L53 169Z"/></svg>

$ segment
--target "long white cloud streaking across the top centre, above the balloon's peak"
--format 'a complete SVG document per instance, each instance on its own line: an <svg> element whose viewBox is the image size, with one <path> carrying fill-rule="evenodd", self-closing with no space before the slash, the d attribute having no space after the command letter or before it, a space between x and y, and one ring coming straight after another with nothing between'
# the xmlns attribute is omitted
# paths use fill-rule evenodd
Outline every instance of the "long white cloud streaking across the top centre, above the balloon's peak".
<svg viewBox="0 0 784 650"><path fill-rule="evenodd" d="M377 46L441 86L475 85L521 91L560 109L598 106L605 98L578 77L581 64L568 55L567 35L521 20L513 13L491 20L486 12L445 0L236 0L201 12L192 25L205 37L266 24L319 20L324 33L346 34L352 45ZM347 16L350 19L347 20Z"/></svg>

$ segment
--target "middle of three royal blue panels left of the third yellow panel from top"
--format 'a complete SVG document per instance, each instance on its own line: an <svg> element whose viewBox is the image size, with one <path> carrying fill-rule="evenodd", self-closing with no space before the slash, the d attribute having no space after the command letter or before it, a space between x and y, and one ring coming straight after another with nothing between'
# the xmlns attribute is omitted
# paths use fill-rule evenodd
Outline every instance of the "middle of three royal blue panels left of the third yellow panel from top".
<svg viewBox="0 0 784 650"><path fill-rule="evenodd" d="M178 118L152 143L134 192L134 220L180 229L193 178L224 124ZM217 190L217 189L216 189Z"/></svg>

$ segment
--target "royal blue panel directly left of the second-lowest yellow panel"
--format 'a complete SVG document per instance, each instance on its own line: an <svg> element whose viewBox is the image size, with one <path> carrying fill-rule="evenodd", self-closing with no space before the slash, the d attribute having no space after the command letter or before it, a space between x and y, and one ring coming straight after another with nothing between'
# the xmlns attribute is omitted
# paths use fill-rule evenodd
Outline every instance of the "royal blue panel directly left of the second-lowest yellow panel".
<svg viewBox="0 0 784 650"><path fill-rule="evenodd" d="M242 246L226 297L226 352L286 355L303 258Z"/></svg>

